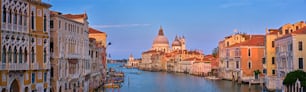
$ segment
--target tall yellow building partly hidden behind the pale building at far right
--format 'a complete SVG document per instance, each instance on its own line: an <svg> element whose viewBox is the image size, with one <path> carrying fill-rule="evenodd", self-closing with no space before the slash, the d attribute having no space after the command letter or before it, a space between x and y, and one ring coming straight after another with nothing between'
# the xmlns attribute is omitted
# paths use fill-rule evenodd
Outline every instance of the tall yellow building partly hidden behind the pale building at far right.
<svg viewBox="0 0 306 92"><path fill-rule="evenodd" d="M276 43L276 39L281 39L284 37L287 37L288 35L294 33L295 31L305 27L306 24L304 21L301 22L297 22L295 24L285 24L283 26L281 26L278 29L267 29L266 30L266 39L265 39L265 61L263 64L264 67L264 74L265 74L265 86L269 89L269 90L276 90L276 89L281 89L281 85L277 85L277 84L282 84L280 81L280 79L278 79L278 73L280 73L280 71L277 71L278 69L278 64L277 60L281 60L282 55L278 55L279 57L277 57L277 51L276 51L276 47L279 47L277 45L283 45L283 44L287 44L290 41L284 41L284 40L279 40L278 44ZM295 35L295 34L292 34ZM289 37L290 38L290 37ZM291 39L291 38L290 38ZM285 43L283 43L283 41ZM292 43L292 46L296 46L298 43ZM285 48L285 47L281 47L281 48ZM290 51L291 52L291 51ZM279 52L281 53L281 52ZM297 57L297 56L295 56ZM278 58L278 59L277 59ZM297 61L297 60L295 60ZM289 61L288 61L289 62ZM293 67L292 67L293 68ZM285 73L282 73L285 74ZM283 76L283 75L281 75Z"/></svg>

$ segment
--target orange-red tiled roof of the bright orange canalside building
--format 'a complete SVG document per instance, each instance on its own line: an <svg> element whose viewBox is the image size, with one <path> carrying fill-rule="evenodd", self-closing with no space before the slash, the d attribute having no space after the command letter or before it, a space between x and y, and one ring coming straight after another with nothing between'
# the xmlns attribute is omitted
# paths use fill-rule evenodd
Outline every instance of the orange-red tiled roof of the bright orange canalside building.
<svg viewBox="0 0 306 92"><path fill-rule="evenodd" d="M251 35L249 40L246 40L241 43L236 43L230 47L238 46L264 46L265 44L265 35Z"/></svg>

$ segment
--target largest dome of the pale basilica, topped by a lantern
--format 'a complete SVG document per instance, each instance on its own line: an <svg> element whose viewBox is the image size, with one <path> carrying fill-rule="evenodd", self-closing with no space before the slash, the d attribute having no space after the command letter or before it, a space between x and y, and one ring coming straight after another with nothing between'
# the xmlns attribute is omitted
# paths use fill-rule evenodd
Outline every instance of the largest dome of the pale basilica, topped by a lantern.
<svg viewBox="0 0 306 92"><path fill-rule="evenodd" d="M154 39L154 44L169 44L168 38L164 36L163 29L160 28L157 37Z"/></svg>

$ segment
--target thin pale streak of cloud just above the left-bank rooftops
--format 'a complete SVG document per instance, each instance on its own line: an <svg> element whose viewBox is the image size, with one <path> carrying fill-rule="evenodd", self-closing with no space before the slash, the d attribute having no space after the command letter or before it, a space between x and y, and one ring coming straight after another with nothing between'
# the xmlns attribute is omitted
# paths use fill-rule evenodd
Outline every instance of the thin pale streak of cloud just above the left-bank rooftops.
<svg viewBox="0 0 306 92"><path fill-rule="evenodd" d="M92 25L94 28L126 28L126 27L144 27L151 24L116 24L116 25Z"/></svg>

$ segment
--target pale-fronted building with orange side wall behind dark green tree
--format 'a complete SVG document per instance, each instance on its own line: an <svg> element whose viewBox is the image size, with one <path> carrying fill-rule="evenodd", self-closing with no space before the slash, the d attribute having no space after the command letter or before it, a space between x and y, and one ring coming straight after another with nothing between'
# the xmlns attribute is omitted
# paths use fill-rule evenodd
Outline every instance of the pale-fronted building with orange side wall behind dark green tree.
<svg viewBox="0 0 306 92"><path fill-rule="evenodd" d="M297 28L296 31L285 34L283 37L275 39L276 46L276 71L277 83L282 83L286 75L294 70L303 70L306 64L305 48L306 27ZM282 86L282 85L277 85ZM283 87L282 87L283 88Z"/></svg>

